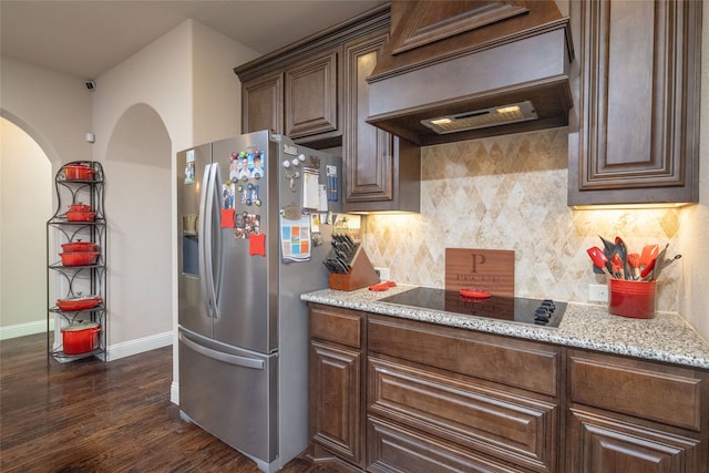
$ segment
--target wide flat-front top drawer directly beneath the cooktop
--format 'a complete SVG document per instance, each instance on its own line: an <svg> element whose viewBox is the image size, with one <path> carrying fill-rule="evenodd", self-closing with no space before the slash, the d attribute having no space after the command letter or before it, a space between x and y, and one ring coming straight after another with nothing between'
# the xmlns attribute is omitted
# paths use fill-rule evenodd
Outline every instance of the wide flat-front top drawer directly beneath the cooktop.
<svg viewBox="0 0 709 473"><path fill-rule="evenodd" d="M370 352L556 397L561 349L412 320L369 316Z"/></svg>

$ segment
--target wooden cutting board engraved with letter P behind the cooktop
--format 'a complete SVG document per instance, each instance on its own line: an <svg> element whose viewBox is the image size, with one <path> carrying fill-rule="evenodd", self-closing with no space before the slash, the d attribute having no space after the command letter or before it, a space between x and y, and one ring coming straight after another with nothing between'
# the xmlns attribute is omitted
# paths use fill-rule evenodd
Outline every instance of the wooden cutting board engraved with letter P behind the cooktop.
<svg viewBox="0 0 709 473"><path fill-rule="evenodd" d="M445 248L445 290L467 288L514 297L514 251Z"/></svg>

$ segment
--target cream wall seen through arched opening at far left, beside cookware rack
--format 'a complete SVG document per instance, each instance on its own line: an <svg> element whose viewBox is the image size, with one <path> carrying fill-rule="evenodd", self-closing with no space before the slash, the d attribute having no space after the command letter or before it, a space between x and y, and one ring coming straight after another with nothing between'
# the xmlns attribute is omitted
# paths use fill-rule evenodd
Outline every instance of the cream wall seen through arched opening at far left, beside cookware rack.
<svg viewBox="0 0 709 473"><path fill-rule="evenodd" d="M47 220L52 167L24 131L0 117L0 339L47 329ZM59 258L52 253L51 257Z"/></svg>

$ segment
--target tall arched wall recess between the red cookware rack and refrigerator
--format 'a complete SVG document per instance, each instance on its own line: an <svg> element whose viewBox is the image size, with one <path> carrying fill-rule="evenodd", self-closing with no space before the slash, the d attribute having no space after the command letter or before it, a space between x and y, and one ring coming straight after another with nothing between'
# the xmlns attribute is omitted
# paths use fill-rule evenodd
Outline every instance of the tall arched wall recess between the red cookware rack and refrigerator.
<svg viewBox="0 0 709 473"><path fill-rule="evenodd" d="M148 105L116 122L104 161L110 359L172 343L172 142Z"/></svg>

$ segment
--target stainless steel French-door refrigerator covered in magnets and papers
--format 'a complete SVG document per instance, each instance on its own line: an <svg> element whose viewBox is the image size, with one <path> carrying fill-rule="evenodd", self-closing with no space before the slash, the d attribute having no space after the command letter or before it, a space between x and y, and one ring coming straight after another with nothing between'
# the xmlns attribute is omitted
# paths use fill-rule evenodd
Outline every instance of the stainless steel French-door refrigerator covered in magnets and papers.
<svg viewBox="0 0 709 473"><path fill-rule="evenodd" d="M340 166L268 131L177 154L181 413L266 472L308 444L300 294L328 286Z"/></svg>

